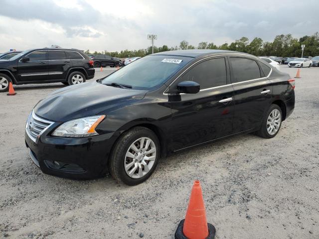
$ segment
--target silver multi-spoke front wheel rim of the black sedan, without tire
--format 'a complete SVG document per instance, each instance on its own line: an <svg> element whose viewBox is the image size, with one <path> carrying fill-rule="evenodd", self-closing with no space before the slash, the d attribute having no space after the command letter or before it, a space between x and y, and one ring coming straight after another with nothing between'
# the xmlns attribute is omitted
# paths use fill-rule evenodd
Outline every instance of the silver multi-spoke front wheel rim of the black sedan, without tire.
<svg viewBox="0 0 319 239"><path fill-rule="evenodd" d="M148 174L156 160L156 146L148 137L134 141L125 155L124 168L131 178L141 178Z"/></svg>

